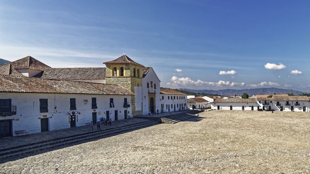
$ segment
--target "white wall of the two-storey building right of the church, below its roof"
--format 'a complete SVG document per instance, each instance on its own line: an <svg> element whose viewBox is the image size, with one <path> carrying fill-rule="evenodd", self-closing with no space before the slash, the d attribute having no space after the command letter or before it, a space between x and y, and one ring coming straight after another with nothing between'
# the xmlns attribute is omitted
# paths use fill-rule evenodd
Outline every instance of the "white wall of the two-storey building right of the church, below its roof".
<svg viewBox="0 0 310 174"><path fill-rule="evenodd" d="M172 112L172 111L179 111L182 110L182 104L183 104L183 110L187 110L187 95L175 95L175 94L160 94L161 99L160 101L161 105L163 105L163 111L164 112ZM169 96L169 99L168 99ZM175 99L171 99L175 98ZM180 98L181 97L181 98ZM184 98L184 99L182 99ZM172 107L171 107L172 105ZM174 108L175 106L175 108Z"/></svg>

